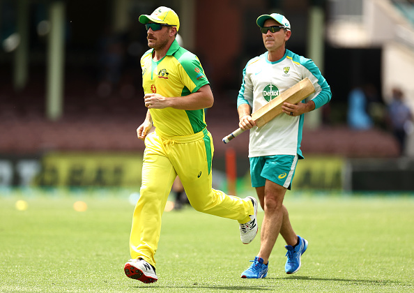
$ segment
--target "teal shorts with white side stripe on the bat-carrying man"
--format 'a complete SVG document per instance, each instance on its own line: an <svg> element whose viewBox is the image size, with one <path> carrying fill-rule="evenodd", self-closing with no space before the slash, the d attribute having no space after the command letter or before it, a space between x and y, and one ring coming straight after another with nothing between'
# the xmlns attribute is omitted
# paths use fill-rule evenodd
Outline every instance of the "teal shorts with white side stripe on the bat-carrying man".
<svg viewBox="0 0 414 293"><path fill-rule="evenodd" d="M298 156L276 155L250 158L252 186L265 186L266 179L291 189Z"/></svg>

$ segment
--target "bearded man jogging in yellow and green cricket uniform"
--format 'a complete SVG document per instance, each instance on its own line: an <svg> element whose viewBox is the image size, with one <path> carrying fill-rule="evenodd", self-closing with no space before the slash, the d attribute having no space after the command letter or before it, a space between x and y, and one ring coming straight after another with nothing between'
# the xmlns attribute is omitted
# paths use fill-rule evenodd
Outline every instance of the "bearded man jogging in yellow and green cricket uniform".
<svg viewBox="0 0 414 293"><path fill-rule="evenodd" d="M153 283L158 280L154 255L162 212L177 175L194 209L238 220L243 243L256 236L258 204L254 197L240 199L212 188L214 147L204 109L213 105L213 93L197 56L175 39L178 15L162 6L151 15L141 15L139 22L146 24L151 48L141 57L148 112L137 129L146 148L140 197L132 219L132 259L125 264L125 274ZM152 126L155 131L148 134Z"/></svg>

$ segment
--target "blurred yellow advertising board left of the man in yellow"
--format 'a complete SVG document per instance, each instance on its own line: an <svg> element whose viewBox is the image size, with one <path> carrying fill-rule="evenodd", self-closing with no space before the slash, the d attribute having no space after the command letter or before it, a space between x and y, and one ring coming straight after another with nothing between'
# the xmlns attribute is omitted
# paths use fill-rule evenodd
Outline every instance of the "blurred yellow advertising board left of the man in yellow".
<svg viewBox="0 0 414 293"><path fill-rule="evenodd" d="M141 186L137 153L47 153L36 186Z"/></svg>

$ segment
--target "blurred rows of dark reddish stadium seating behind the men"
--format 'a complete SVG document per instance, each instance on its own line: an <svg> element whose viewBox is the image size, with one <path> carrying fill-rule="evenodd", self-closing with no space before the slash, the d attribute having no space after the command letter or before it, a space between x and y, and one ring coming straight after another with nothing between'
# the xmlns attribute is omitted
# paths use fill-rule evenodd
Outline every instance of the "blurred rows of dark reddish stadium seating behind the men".
<svg viewBox="0 0 414 293"><path fill-rule="evenodd" d="M146 108L141 89L119 84L102 97L96 82L87 78L68 79L63 117L45 118L43 80L31 79L26 89L11 87L0 93L0 153L43 153L45 151L142 151L136 129L144 121ZM127 89L127 90L125 90ZM228 147L247 156L248 133L229 144L222 137L238 127L234 101L215 93L215 105L206 120L215 141L215 154L222 156ZM348 158L392 158L398 156L397 143L385 130L355 131L346 126L305 129L302 151L307 154L332 154Z"/></svg>

